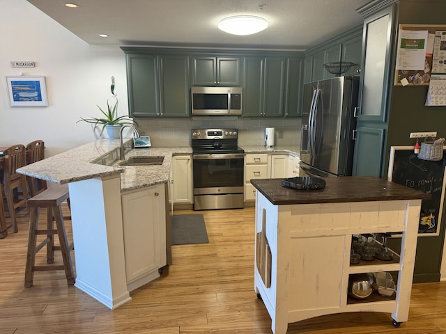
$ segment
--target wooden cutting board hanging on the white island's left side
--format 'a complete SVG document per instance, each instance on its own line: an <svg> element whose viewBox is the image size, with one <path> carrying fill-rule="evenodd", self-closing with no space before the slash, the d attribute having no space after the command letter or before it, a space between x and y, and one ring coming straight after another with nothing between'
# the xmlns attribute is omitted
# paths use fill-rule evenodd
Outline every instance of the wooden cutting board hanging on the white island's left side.
<svg viewBox="0 0 446 334"><path fill-rule="evenodd" d="M257 271L265 287L271 286L271 250L266 238L266 209L262 212L262 230L256 233Z"/></svg>

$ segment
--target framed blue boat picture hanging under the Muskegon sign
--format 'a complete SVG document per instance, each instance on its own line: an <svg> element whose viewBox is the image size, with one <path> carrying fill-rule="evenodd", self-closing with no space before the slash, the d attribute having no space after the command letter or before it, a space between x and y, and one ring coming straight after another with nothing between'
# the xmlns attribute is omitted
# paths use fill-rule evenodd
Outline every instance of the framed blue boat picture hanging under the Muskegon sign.
<svg viewBox="0 0 446 334"><path fill-rule="evenodd" d="M6 77L10 106L47 106L45 77Z"/></svg>

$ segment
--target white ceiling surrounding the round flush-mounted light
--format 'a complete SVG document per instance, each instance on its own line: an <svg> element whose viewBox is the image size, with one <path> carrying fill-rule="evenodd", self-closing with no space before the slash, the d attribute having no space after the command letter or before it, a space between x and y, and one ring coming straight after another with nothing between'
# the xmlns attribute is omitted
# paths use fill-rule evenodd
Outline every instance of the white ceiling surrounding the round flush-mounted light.
<svg viewBox="0 0 446 334"><path fill-rule="evenodd" d="M370 0L73 0L78 8L64 6L70 0L28 1L91 45L305 50L362 24L356 9ZM247 36L217 29L231 15L261 16L270 26Z"/></svg>

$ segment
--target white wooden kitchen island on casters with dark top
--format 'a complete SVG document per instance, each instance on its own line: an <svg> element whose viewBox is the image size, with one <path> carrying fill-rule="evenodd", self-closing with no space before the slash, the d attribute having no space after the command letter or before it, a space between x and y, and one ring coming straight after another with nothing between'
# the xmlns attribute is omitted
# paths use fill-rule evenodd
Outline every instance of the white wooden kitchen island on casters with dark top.
<svg viewBox="0 0 446 334"><path fill-rule="evenodd" d="M254 289L284 334L289 323L341 312L388 312L408 320L420 207L430 195L377 177L328 177L325 189L295 190L281 180L252 180L256 188ZM401 250L390 262L351 264L352 236L397 232ZM397 276L396 296L348 294L357 273Z"/></svg>

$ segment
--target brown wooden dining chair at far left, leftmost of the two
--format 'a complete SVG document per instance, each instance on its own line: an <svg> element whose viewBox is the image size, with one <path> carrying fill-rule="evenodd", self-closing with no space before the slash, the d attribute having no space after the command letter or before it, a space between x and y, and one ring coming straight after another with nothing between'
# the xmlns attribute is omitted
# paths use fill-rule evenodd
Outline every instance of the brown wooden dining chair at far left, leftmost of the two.
<svg viewBox="0 0 446 334"><path fill-rule="evenodd" d="M4 150L3 154L5 159L3 161L4 193L13 232L17 233L18 228L15 209L26 207L26 201L29 198L26 177L23 174L17 173L17 169L26 164L26 150L24 145L17 144ZM22 193L22 196L17 196L17 193L20 192Z"/></svg>

